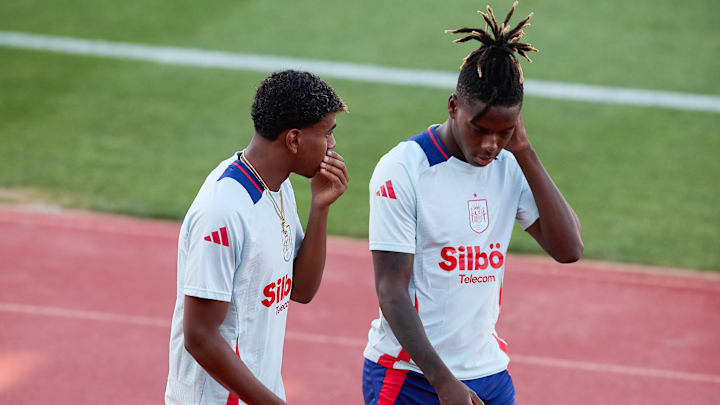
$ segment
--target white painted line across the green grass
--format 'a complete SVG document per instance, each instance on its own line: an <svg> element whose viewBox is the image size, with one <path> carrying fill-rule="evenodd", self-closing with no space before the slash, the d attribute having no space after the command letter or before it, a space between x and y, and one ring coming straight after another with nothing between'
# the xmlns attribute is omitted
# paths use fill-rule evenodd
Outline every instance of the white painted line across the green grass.
<svg viewBox="0 0 720 405"><path fill-rule="evenodd" d="M457 80L457 73L435 70L389 68L377 65L108 42L12 31L0 31L0 46L263 73L292 68L307 70L324 78L441 89L453 89ZM525 81L525 94L562 100L720 112L720 97L701 94L530 79Z"/></svg>

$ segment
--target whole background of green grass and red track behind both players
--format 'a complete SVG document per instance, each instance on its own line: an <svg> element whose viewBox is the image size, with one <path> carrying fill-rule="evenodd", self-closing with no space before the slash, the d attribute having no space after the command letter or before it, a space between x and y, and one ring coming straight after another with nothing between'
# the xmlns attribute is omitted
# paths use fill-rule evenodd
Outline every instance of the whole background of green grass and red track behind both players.
<svg viewBox="0 0 720 405"><path fill-rule="evenodd" d="M255 89L277 69L268 57L305 60L350 108L335 137L351 183L329 232L357 240L331 240L317 299L292 310L288 398L359 403L377 316L368 182L386 151L447 118L453 77L477 43L453 44L443 30L483 27L485 4L0 2L0 404L161 401L177 221L208 172L249 142ZM511 5L492 1L498 18ZM541 52L522 61L528 135L582 221L584 259L617 264L512 256L498 331L510 337L518 398L715 403L720 2L521 0L512 22L530 11L524 39ZM98 40L102 49L83 42ZM248 60L255 67L238 68ZM359 66L318 71L329 62ZM440 80L356 77L377 67ZM665 106L635 105L638 95ZM304 221L308 180L292 181ZM510 250L540 253L519 229Z"/></svg>

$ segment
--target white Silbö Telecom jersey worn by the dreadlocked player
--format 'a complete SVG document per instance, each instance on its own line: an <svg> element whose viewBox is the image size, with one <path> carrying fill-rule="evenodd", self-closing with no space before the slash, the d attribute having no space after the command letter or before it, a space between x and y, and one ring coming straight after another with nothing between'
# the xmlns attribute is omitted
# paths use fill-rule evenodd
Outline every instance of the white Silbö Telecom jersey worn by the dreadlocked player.
<svg viewBox="0 0 720 405"><path fill-rule="evenodd" d="M503 150L484 167L452 157L436 127L384 155L370 180L370 250L414 254L408 286L433 348L456 378L507 368L495 331L514 221L538 218L525 176ZM372 322L365 357L422 372L383 317Z"/></svg>

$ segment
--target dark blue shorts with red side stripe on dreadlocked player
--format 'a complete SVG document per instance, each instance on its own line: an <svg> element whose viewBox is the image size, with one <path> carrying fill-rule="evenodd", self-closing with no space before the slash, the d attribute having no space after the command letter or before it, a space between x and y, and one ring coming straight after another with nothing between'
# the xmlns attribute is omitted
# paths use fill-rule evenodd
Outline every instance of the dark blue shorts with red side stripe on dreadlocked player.
<svg viewBox="0 0 720 405"><path fill-rule="evenodd" d="M515 405L515 387L507 370L463 383L486 405ZM363 396L365 405L440 404L424 375L385 368L368 359L363 365Z"/></svg>

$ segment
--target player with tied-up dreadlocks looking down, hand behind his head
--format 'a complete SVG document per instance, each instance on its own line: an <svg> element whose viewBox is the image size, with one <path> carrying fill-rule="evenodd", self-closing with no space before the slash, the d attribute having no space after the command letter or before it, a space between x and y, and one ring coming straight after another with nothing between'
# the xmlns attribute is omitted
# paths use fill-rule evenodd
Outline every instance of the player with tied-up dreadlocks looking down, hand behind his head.
<svg viewBox="0 0 720 405"><path fill-rule="evenodd" d="M507 343L495 330L517 221L555 260L577 261L580 222L535 153L521 118L516 54L529 15L455 42L463 61L447 121L401 142L370 181L370 250L380 317L365 348L366 404L515 403Z"/></svg>

